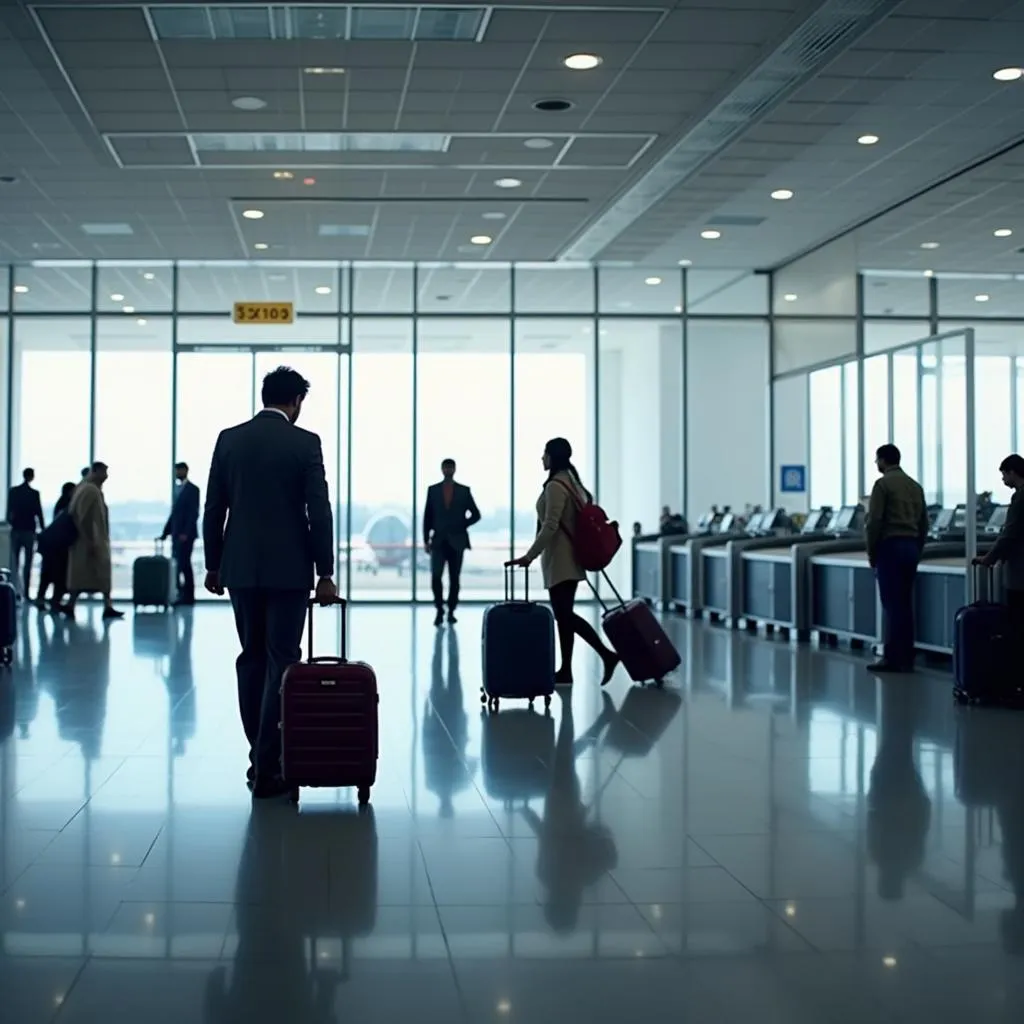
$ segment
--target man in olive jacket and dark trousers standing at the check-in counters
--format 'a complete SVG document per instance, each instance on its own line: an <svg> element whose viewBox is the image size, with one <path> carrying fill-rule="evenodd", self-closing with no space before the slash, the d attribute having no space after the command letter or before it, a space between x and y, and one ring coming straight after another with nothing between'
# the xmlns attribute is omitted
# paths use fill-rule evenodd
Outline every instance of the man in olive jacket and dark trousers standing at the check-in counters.
<svg viewBox="0 0 1024 1024"><path fill-rule="evenodd" d="M864 532L885 612L885 638L882 659L868 671L912 672L913 585L928 540L928 506L921 484L900 468L895 444L883 444L874 465L882 475L871 489Z"/></svg>

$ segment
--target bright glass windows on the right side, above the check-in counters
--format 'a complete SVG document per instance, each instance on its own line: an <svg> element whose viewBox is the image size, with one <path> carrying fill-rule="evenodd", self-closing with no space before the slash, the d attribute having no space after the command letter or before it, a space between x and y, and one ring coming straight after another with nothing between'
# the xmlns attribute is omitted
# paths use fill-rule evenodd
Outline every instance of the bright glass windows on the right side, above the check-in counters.
<svg viewBox="0 0 1024 1024"><path fill-rule="evenodd" d="M900 449L904 467L921 481L929 503L952 507L966 502L963 344L927 341L966 328L975 331L976 489L1005 504L999 464L1024 446L1020 283L985 274L910 279L870 273L861 278L858 291L859 311L846 323L860 339L859 357L854 353L842 364L829 359L806 371L811 504L849 503L869 490L876 474L874 451L887 441ZM788 307L785 312L791 315ZM809 333L820 327L815 316L804 323ZM840 372L842 406L837 404ZM862 403L857 399L861 381ZM842 410L839 418L837 408ZM857 420L861 414L862 431ZM845 467L842 486L837 465Z"/></svg>

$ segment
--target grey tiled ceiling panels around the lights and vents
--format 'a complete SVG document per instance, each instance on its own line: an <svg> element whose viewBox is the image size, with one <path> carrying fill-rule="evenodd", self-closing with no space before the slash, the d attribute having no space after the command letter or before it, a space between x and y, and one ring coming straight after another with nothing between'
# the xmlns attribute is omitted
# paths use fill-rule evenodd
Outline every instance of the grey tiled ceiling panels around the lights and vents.
<svg viewBox="0 0 1024 1024"><path fill-rule="evenodd" d="M0 185L0 260L260 258L257 242L270 259L555 259L822 4L441 6L492 8L483 40L158 43L137 3L0 0L0 175L17 178ZM774 265L1024 138L1024 84L991 79L1020 63L1022 37L1021 0L905 0L624 225L599 258ZM562 67L581 50L603 63ZM345 74L304 74L309 67ZM231 101L242 96L266 105L239 110ZM552 97L573 106L534 109ZM856 144L865 131L879 145ZM207 152L196 166L190 136L233 132L449 141L435 153L282 155L280 164ZM554 144L530 148L529 138ZM272 179L279 167L295 177ZM971 184L953 182L864 228L867 265L923 269L918 218L943 239L1014 218L1024 245L1020 174L1005 158ZM315 182L303 184L306 176ZM521 187L496 186L508 176ZM780 187L794 200L770 200ZM250 206L265 217L242 218ZM130 233L90 236L87 223L124 223ZM711 224L721 240L699 239ZM326 225L341 233L325 234ZM468 244L480 233L494 244ZM1014 241L997 247L1000 269L1024 270ZM962 245L950 238L936 257L991 262L990 242L991 231L987 242L977 231Z"/></svg>

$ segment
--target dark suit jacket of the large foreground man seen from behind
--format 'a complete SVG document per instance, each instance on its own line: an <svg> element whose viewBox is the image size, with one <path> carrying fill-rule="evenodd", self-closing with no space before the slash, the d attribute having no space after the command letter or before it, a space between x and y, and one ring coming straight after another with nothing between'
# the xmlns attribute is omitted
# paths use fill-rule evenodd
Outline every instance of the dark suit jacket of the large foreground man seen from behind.
<svg viewBox="0 0 1024 1024"><path fill-rule="evenodd" d="M203 544L207 570L229 589L308 592L314 568L333 575L319 437L273 410L224 430L210 464Z"/></svg>

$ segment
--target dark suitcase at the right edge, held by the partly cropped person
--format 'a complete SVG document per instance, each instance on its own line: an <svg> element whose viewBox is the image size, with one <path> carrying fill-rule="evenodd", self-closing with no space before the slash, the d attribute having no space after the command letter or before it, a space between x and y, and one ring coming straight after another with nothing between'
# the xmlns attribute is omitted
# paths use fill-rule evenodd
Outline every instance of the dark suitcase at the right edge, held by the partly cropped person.
<svg viewBox="0 0 1024 1024"><path fill-rule="evenodd" d="M953 698L965 705L1024 707L1013 612L992 600L993 573L980 569L975 577L979 599L953 618Z"/></svg>

